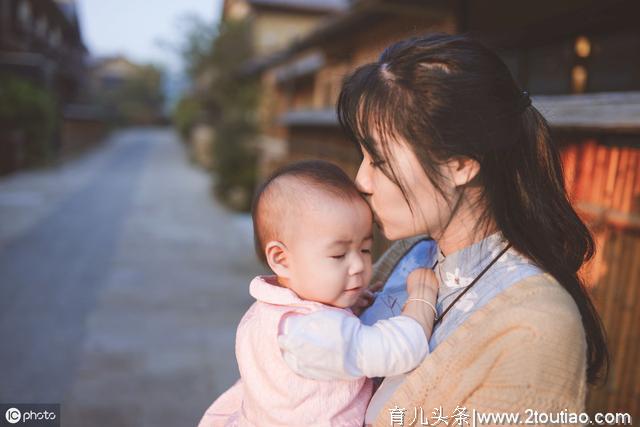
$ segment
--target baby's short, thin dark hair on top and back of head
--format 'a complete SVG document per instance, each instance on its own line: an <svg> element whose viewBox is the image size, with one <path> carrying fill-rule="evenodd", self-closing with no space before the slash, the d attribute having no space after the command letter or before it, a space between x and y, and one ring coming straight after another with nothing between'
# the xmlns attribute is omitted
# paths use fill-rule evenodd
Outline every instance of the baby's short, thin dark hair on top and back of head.
<svg viewBox="0 0 640 427"><path fill-rule="evenodd" d="M264 265L268 266L266 244L281 239L319 193L344 201L364 200L351 178L339 166L324 160L290 163L259 186L251 217L256 255Z"/></svg>

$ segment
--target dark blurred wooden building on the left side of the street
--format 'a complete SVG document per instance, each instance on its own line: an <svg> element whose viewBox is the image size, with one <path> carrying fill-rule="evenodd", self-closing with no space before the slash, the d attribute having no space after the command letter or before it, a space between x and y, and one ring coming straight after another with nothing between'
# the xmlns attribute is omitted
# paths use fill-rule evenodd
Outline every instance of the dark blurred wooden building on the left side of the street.
<svg viewBox="0 0 640 427"><path fill-rule="evenodd" d="M50 153L38 157L43 161L66 157L104 134L100 111L87 105L83 90L87 55L75 0L0 0L0 74L35 85L55 104L53 135L45 142L15 121L2 123L0 174L30 166L27 153Z"/></svg>

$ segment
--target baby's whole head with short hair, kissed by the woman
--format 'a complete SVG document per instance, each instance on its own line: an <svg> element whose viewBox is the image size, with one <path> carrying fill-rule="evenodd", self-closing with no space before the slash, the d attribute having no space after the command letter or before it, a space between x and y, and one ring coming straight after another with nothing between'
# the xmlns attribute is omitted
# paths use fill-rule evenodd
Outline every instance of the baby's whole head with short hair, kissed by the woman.
<svg viewBox="0 0 640 427"><path fill-rule="evenodd" d="M300 298L345 308L368 286L373 218L338 166L279 169L256 192L252 215L258 257Z"/></svg>

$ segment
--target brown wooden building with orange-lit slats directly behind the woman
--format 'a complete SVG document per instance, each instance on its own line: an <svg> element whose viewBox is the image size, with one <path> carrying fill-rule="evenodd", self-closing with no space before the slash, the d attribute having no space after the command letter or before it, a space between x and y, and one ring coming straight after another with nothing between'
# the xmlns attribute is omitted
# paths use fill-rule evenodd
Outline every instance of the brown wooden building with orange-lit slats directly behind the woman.
<svg viewBox="0 0 640 427"><path fill-rule="evenodd" d="M584 269L612 356L590 412L640 416L640 4L630 0L359 0L286 48L247 64L266 96L262 177L304 158L355 176L359 153L335 103L346 73L390 43L469 33L498 51L562 147L568 188L598 241Z"/></svg>

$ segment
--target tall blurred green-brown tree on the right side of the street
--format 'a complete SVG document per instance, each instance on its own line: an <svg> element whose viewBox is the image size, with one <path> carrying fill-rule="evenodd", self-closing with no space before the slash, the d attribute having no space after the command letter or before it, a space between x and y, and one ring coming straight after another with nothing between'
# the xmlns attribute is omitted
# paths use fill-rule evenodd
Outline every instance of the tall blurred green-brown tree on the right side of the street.
<svg viewBox="0 0 640 427"><path fill-rule="evenodd" d="M227 20L216 30L203 30L192 19L182 52L194 81L191 96L216 131L215 193L231 207L248 210L256 178L259 81L239 70L253 55L251 26L248 20Z"/></svg>

